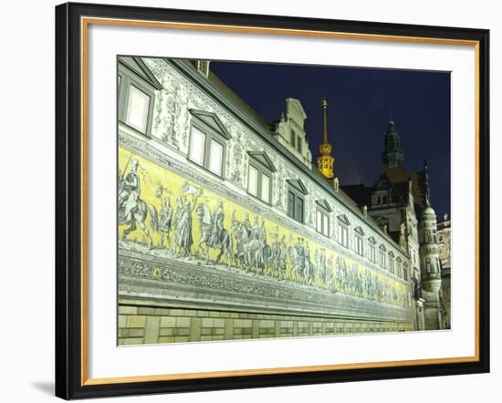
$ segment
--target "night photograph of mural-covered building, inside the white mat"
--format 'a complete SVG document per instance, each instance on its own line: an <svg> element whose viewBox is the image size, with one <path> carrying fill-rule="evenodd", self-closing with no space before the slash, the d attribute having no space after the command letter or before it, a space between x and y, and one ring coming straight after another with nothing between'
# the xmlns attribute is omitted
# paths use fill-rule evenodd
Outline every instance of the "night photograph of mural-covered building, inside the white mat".
<svg viewBox="0 0 502 403"><path fill-rule="evenodd" d="M451 126L448 71L117 56L117 345L449 331Z"/></svg>

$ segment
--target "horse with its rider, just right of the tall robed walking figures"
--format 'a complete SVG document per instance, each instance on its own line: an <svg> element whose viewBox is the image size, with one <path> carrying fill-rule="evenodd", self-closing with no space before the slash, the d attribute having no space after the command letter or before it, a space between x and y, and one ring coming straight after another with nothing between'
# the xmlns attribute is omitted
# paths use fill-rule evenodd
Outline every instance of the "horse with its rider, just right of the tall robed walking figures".
<svg viewBox="0 0 502 403"><path fill-rule="evenodd" d="M218 253L215 263L219 263L225 253L227 266L230 267L230 264L232 263L233 249L232 237L230 236L230 233L223 228L219 237L214 239L214 220L211 216L211 212L209 211L209 207L207 207L204 203L197 205L197 217L201 228L201 239L199 240L199 243L197 243L197 247L200 251L201 257L203 257L205 253L205 263L207 264L209 263L209 250L219 249L220 253ZM205 249L203 245L206 246Z"/></svg>

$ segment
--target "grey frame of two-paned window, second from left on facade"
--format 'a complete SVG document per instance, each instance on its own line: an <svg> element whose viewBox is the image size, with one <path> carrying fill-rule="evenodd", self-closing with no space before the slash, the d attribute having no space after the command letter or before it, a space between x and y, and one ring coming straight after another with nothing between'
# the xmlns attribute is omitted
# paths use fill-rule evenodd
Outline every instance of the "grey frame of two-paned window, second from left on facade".
<svg viewBox="0 0 502 403"><path fill-rule="evenodd" d="M200 119L197 115L192 113L192 119L190 119L190 132L188 136L188 150L186 153L186 159L193 162L198 167L204 168L205 171L210 172L214 176L225 180L225 168L226 168L226 142L228 139L225 138L221 133L218 133L215 129L209 126L203 119ZM204 155L203 163L200 164L198 161L190 158L190 150L192 149L192 139L193 139L193 129L197 129L204 134ZM222 146L222 166L220 174L211 171L209 169L211 160L211 142L215 141L220 146Z"/></svg>

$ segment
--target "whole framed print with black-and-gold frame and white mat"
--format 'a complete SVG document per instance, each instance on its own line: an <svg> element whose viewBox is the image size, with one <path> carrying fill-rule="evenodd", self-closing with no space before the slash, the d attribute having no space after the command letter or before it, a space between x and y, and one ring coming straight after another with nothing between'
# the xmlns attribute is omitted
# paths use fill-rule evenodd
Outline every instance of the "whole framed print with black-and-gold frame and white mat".
<svg viewBox="0 0 502 403"><path fill-rule="evenodd" d="M57 396L487 372L488 37L58 5Z"/></svg>

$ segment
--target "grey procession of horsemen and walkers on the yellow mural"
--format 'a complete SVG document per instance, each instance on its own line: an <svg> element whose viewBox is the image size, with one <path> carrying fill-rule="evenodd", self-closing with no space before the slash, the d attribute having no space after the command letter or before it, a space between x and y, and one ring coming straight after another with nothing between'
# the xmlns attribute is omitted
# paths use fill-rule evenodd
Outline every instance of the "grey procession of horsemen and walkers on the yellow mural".
<svg viewBox="0 0 502 403"><path fill-rule="evenodd" d="M127 166L130 171L127 175ZM207 200L200 202L204 190L189 182L175 205L169 191L159 185L155 196L161 201L160 210L141 200L139 163L129 160L119 178L119 225L127 225L121 241L140 227L148 249L160 249L175 259L202 260L205 264L225 264L247 274L274 277L278 281L309 284L382 303L408 306L406 294L396 291L385 278L368 269L350 266L342 256L335 259L318 247L313 252L309 241L292 233L280 234L278 226L267 235L266 220L255 215L253 220L245 212L242 221L232 212L231 224L225 228L225 202L219 200L211 212ZM163 193L167 193L163 196ZM162 197L163 196L163 197ZM193 218L196 217L199 236L194 242ZM150 226L150 229L149 229ZM154 245L152 233L160 234L160 244ZM210 259L211 255L215 256Z"/></svg>

